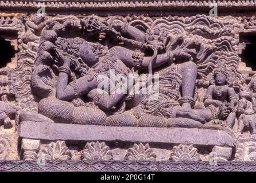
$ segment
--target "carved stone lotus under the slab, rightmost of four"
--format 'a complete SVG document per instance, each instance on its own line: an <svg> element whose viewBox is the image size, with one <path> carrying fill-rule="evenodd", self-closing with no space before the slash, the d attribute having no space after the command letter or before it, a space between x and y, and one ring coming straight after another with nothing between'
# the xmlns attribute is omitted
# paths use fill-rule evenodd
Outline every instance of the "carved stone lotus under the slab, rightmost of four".
<svg viewBox="0 0 256 183"><path fill-rule="evenodd" d="M170 160L174 161L198 161L200 160L197 149L193 145L174 146L170 155Z"/></svg>

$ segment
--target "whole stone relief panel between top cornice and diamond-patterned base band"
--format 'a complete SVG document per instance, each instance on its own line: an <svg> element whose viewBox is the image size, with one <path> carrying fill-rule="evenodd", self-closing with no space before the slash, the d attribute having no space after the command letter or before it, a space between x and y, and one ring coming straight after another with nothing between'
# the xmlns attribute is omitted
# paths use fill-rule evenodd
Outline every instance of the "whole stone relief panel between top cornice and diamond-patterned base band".
<svg viewBox="0 0 256 183"><path fill-rule="evenodd" d="M0 69L0 134L21 142L2 140L2 160L12 146L27 161L254 161L256 80L238 70L239 33L254 18L6 19L18 60ZM125 133L135 129L139 140Z"/></svg>

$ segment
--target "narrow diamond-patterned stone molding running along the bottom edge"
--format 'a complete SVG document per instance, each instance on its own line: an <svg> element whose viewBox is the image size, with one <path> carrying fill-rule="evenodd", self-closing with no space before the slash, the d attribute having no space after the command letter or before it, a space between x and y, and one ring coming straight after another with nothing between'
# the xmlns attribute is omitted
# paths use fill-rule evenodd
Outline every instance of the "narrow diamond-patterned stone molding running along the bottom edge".
<svg viewBox="0 0 256 183"><path fill-rule="evenodd" d="M0 171L172 171L254 172L256 162L173 162L173 161L0 161Z"/></svg>

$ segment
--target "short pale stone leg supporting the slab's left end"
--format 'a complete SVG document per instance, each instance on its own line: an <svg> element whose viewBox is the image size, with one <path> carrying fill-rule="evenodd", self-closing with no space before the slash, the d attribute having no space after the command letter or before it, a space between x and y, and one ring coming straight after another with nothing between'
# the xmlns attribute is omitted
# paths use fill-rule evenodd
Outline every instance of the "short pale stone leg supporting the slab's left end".
<svg viewBox="0 0 256 183"><path fill-rule="evenodd" d="M28 138L23 138L21 141L21 153L23 155L23 160L37 160L37 153L39 151L40 144L40 140L31 140Z"/></svg>

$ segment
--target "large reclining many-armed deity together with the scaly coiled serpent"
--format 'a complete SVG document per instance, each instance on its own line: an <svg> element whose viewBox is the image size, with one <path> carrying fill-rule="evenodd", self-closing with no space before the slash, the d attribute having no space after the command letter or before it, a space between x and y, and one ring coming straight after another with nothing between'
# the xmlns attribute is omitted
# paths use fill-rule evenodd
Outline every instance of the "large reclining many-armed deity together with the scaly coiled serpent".
<svg viewBox="0 0 256 183"><path fill-rule="evenodd" d="M130 35L135 41L146 42L148 35L143 31L127 23L121 26L121 35ZM43 34L47 37L51 33L52 30L45 30ZM38 49L38 59L32 74L32 90L42 98L38 103L38 113L54 122L172 126L173 118L182 117L191 120L193 126L196 122L204 124L212 120L212 110L193 109L197 77L196 63L191 61L191 54L195 54L193 50L165 50L165 53L157 54L155 61L150 63L152 57L126 46L108 49L100 43L88 42L82 38L51 37L51 41L44 40ZM57 71L52 68L55 62L59 64L55 65L58 67ZM165 69L154 73L159 75L159 81L153 83L159 85L157 100L152 99L150 93L110 93L98 88L105 82L98 76L103 74L110 78L110 70L114 70L115 74L129 75L134 68L146 70L150 64L156 68L166 63L168 66ZM107 82L116 83L111 78ZM137 82L141 82L141 78L137 78ZM130 91L130 86L127 86L129 85L126 85L126 90ZM115 89L120 88L123 90L123 85L118 82ZM77 98L80 100L76 100ZM27 115L27 118L24 116L21 114L23 121L38 119L33 115Z"/></svg>

